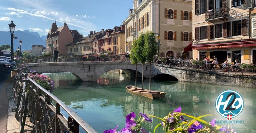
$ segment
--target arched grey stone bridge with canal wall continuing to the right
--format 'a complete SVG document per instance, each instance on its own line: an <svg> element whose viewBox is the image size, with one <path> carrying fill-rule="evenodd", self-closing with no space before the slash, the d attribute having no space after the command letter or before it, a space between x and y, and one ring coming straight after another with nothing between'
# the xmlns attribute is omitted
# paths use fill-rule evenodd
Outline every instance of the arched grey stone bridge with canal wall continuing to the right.
<svg viewBox="0 0 256 133"><path fill-rule="evenodd" d="M125 73L135 73L135 65L130 62L58 62L28 64L38 72L71 72L83 81L96 81L103 73L121 69ZM142 65L137 65L137 71L142 73ZM144 65L144 77L149 78L149 65ZM169 77L185 82L196 82L216 85L234 85L255 87L255 75L235 75L217 71L198 70L167 66L162 64L151 65L151 78Z"/></svg>

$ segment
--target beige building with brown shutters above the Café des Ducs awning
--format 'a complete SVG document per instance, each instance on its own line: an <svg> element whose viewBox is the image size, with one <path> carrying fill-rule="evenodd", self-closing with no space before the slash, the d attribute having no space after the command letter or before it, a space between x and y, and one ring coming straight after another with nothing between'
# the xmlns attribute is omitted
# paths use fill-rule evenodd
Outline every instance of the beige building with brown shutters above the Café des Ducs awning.
<svg viewBox="0 0 256 133"><path fill-rule="evenodd" d="M255 0L253 0L255 3ZM193 1L193 59L256 63L256 13L250 0ZM256 17L256 16L255 16ZM253 23L254 22L254 23Z"/></svg>

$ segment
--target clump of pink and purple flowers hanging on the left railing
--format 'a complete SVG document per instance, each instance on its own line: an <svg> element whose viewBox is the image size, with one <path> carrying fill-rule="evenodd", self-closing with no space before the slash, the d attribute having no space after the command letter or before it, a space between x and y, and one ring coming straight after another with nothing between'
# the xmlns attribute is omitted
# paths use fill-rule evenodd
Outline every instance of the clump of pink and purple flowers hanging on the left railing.
<svg viewBox="0 0 256 133"><path fill-rule="evenodd" d="M29 78L33 79L37 84L42 86L44 89L52 92L54 88L54 83L51 78L43 74L29 74Z"/></svg>

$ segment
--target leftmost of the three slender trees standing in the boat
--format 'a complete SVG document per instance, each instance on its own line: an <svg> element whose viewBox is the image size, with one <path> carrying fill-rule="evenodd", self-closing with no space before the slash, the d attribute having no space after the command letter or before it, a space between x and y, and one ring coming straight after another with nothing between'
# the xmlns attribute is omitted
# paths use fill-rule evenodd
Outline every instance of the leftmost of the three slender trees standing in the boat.
<svg viewBox="0 0 256 133"><path fill-rule="evenodd" d="M132 61L132 64L135 65L136 69L135 69L135 88L137 88L137 64L138 64L138 56L140 55L139 53L139 48L138 48L138 45L137 45L137 40L135 39L133 41L133 44L132 44L132 49L131 49L131 55L130 55L130 59Z"/></svg>

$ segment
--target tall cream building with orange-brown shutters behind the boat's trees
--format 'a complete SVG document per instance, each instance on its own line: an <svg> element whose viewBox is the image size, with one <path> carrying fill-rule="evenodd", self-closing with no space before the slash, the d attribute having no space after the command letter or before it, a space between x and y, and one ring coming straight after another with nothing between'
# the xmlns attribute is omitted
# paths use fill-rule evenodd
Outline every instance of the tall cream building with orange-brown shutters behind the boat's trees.
<svg viewBox="0 0 256 133"><path fill-rule="evenodd" d="M192 0L133 0L133 9L123 24L128 52L140 33L153 31L161 36L160 56L189 58L192 55L191 50L184 51L192 41Z"/></svg>

